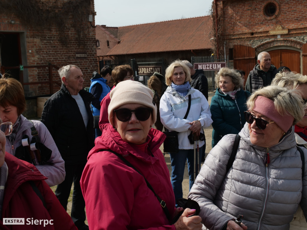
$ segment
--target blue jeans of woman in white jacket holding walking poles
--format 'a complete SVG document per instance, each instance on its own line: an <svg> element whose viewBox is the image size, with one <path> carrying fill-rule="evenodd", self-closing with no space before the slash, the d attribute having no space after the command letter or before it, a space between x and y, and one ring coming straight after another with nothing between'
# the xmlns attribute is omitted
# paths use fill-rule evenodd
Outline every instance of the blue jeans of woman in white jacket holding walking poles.
<svg viewBox="0 0 307 230"><path fill-rule="evenodd" d="M199 169L201 164L201 155L203 147L199 148ZM185 162L188 161L188 174L189 174L189 190L194 184L194 149L179 149L178 153L170 152L171 166L172 166L172 177L171 183L175 194L176 205L177 199L182 198L182 181L185 172ZM187 198L187 197L186 197ZM177 206L176 206L177 207Z"/></svg>

